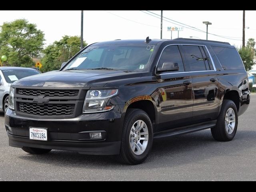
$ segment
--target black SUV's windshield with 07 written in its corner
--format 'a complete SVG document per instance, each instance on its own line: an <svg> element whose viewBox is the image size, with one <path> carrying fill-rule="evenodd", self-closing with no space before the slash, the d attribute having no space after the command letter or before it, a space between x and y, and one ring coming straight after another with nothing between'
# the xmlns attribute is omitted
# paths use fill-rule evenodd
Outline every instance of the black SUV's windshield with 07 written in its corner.
<svg viewBox="0 0 256 192"><path fill-rule="evenodd" d="M64 68L64 70L122 70L147 71L154 45L99 45L89 46Z"/></svg>

